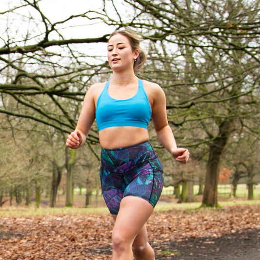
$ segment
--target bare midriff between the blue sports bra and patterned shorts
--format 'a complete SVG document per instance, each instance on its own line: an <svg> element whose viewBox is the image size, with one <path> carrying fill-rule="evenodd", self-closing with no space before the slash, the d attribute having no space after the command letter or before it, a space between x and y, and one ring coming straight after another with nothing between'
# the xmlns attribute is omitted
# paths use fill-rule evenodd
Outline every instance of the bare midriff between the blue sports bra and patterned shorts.
<svg viewBox="0 0 260 260"><path fill-rule="evenodd" d="M134 126L115 126L99 132L100 146L116 149L137 144L149 139L148 130Z"/></svg>

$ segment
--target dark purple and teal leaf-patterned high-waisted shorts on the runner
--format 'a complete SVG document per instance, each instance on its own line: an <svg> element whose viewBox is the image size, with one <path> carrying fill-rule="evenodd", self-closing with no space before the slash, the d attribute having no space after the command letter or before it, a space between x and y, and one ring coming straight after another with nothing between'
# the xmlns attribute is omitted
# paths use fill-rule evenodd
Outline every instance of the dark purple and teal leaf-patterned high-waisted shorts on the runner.
<svg viewBox="0 0 260 260"><path fill-rule="evenodd" d="M149 141L117 149L101 148L100 180L109 211L117 215L120 201L136 196L156 205L163 187L163 171Z"/></svg>

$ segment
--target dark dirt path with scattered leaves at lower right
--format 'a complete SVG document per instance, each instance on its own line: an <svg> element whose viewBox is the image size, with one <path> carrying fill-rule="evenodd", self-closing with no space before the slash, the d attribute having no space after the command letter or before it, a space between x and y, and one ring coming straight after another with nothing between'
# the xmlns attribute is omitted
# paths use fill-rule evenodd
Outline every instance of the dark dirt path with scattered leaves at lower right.
<svg viewBox="0 0 260 260"><path fill-rule="evenodd" d="M220 238L162 242L157 249L158 260L260 260L260 229L240 230Z"/></svg>

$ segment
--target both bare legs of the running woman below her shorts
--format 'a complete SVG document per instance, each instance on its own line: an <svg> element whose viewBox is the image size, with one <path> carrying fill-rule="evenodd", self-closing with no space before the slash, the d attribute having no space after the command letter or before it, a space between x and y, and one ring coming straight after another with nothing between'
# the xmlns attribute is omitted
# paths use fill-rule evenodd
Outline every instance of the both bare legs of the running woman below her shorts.
<svg viewBox="0 0 260 260"><path fill-rule="evenodd" d="M112 233L113 260L154 260L154 253L147 242L145 223L153 212L146 200L127 196L120 202Z"/></svg>

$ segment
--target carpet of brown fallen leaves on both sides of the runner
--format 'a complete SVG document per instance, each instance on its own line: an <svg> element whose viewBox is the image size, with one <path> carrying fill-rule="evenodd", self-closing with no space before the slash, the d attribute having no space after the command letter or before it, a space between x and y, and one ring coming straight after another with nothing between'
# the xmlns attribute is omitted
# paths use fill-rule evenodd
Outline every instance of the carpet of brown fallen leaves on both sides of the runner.
<svg viewBox="0 0 260 260"><path fill-rule="evenodd" d="M0 260L110 260L112 229L109 214L3 216ZM158 254L162 242L220 238L245 229L260 230L260 205L156 211L147 222L149 240ZM214 244L214 240L203 244Z"/></svg>

